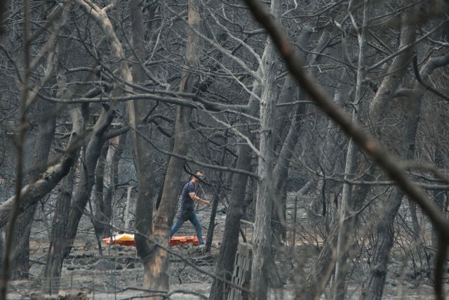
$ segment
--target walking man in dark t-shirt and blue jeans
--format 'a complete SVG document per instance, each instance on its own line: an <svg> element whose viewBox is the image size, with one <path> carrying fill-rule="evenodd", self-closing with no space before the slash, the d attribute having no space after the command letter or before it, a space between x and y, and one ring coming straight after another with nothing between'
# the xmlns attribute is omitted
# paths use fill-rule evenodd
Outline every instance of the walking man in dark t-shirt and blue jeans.
<svg viewBox="0 0 449 300"><path fill-rule="evenodd" d="M170 238L176 233L176 231L182 226L185 221L190 221L195 228L196 236L198 237L199 245L204 244L203 241L203 229L201 228L201 223L198 219L198 215L195 212L195 202L206 204L210 206L210 202L203 200L196 195L196 188L199 184L199 179L203 178L203 172L200 170L195 170L194 176L190 179L188 183L182 188L182 202L180 213L177 216L177 220L173 228L171 228Z"/></svg>

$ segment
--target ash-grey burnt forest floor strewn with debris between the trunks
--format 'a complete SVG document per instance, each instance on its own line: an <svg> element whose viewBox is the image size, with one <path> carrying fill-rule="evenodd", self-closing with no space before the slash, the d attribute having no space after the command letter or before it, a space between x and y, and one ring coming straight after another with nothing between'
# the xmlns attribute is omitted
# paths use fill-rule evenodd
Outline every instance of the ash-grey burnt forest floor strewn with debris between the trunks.
<svg viewBox="0 0 449 300"><path fill-rule="evenodd" d="M297 222L304 224L307 220L313 219L307 212L308 207L308 203L298 205ZM192 245L170 247L175 254L182 256L180 258L170 255L170 299L201 299L208 296L212 278L199 272L186 261L201 270L213 273L225 226L226 215L222 208L219 207L217 212L213 247L210 253L206 254ZM288 209L293 209L293 202L288 203ZM209 209L201 209L199 216L203 223L203 235L206 235ZM291 218L289 214L288 222L291 222ZM100 256L90 221L86 218L80 224L81 229L76 238L75 247L64 262L62 278L60 282L51 283L41 280L48 251L48 230L42 229L45 226L33 228L30 278L11 281L8 299L58 299L55 295L57 292L52 296L44 292L49 285L54 288L58 284L64 291L74 293L82 291L87 294L88 299L139 299L141 297L143 268L135 247L102 244L103 255ZM283 246L276 252L276 264L282 272L280 275L286 283L286 291L283 294L277 294L278 296L274 296L272 292L271 299L293 299L292 291L300 287L301 278L307 276L311 262L316 258L317 249L322 241L308 238L308 233L302 232L302 228L302 226L297 228L295 247ZM243 224L243 231L250 240L252 230L248 224ZM193 226L185 223L177 234L194 235ZM434 299L429 274L426 275L423 270L417 272L410 268L410 260L401 259L402 248L395 249L392 256L394 263L389 267L384 299ZM359 259L358 267L352 270L348 277L348 299L359 299L361 280L369 272L369 266L363 261L363 257ZM326 299L326 295L323 295L322 299Z"/></svg>

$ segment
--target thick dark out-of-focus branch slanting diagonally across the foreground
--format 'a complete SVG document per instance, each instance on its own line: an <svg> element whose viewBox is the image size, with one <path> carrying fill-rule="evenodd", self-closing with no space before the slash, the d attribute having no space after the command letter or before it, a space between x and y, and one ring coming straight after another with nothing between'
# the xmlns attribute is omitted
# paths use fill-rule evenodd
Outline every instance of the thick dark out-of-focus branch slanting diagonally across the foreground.
<svg viewBox="0 0 449 300"><path fill-rule="evenodd" d="M447 249L447 242L449 240L449 221L439 211L434 204L432 204L427 194L418 187L413 181L408 178L406 172L401 165L396 162L391 155L385 150L379 141L375 139L370 133L364 131L359 124L352 122L339 107L333 104L332 99L328 94L316 84L307 72L304 71L303 63L300 56L295 53L294 48L288 41L286 33L281 26L276 22L273 15L267 11L267 8L259 0L246 0L250 11L252 11L257 22L264 27L269 36L272 38L274 44L278 48L281 56L286 61L286 66L293 78L296 79L304 91L306 91L314 102L321 107L328 117L333 119L343 131L354 139L354 141L365 150L375 162L382 167L382 169L398 183L398 186L410 197L413 202L416 202L424 211L429 219L438 230L438 262L444 261L445 252ZM435 296L438 300L443 300L443 263L436 268L435 272Z"/></svg>

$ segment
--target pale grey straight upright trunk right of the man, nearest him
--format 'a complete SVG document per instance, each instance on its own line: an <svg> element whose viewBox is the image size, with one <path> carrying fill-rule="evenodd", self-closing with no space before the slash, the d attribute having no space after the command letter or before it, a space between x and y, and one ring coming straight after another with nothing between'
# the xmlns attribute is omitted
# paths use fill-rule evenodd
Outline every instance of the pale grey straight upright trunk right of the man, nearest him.
<svg viewBox="0 0 449 300"><path fill-rule="evenodd" d="M271 12L275 18L281 15L281 1L273 0ZM257 203L253 230L253 263L251 291L257 299L267 299L269 282L269 257L272 252L272 205L275 197L272 188L274 164L274 137L272 127L276 112L276 62L278 54L269 38L262 55L262 96L260 97L260 141L257 175Z"/></svg>

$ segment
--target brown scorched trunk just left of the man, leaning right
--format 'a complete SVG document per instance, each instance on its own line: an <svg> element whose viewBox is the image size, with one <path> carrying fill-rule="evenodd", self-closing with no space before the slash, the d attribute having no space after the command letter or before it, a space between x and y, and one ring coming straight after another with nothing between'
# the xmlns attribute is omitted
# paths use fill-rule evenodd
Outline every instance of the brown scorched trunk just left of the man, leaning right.
<svg viewBox="0 0 449 300"><path fill-rule="evenodd" d="M187 33L187 44L185 53L185 63L189 67L196 67L199 63L200 41L194 30L199 30L201 22L200 6L198 0L189 0L188 18L189 30ZM182 72L180 83L181 92L192 92L197 80L196 75L187 71ZM192 109L190 107L178 106L176 112L175 127L173 130L174 144L173 152L185 156L189 150L190 127L189 120ZM170 237L170 227L175 216L177 204L177 193L179 193L179 183L181 172L185 164L185 159L170 157L167 174L164 179L161 204L153 220L153 229L150 240L145 242L145 253L139 254L145 258L144 263L144 287L146 289L168 290L168 259L166 249L159 247L152 241L158 242L168 247ZM136 206L136 209L140 209ZM136 216L137 218L137 216ZM137 242L137 240L136 240ZM143 248L143 247L142 247ZM145 254L145 256L143 256Z"/></svg>

